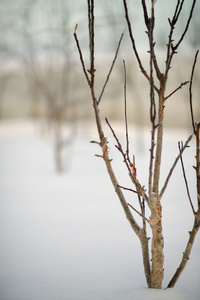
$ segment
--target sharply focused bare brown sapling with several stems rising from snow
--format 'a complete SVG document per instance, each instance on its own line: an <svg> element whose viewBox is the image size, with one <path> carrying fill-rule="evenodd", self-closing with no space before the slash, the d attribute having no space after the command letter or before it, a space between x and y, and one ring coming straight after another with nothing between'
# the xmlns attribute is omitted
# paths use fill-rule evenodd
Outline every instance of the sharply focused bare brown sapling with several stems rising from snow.
<svg viewBox="0 0 200 300"><path fill-rule="evenodd" d="M123 37L123 34L121 35L121 38L118 43L118 47L113 59L113 62L111 64L111 68L109 71L109 74L105 80L105 85L102 88L102 92L100 93L100 96L98 97L96 95L95 90L95 80L96 80L96 69L95 69L95 42L94 42L94 0L88 0L88 28L89 28L89 53L90 53L90 66L89 68L85 65L85 60L83 58L82 50L80 47L80 43L77 37L77 27L75 27L74 31L74 38L77 44L77 49L80 56L80 61L82 65L83 72L85 74L85 78L87 80L90 92L91 92L91 98L94 108L94 114L96 119L96 125L99 135L99 141L92 141L93 143L97 143L101 147L102 154L97 155L98 157L101 157L107 167L108 174L110 176L111 182L114 186L115 192L117 193L117 196L121 202L122 208L125 212L126 218L129 221L133 231L139 238L139 241L141 243L141 249L142 249L142 257L143 257L143 266L144 266L144 273L146 277L147 286L149 288L155 288L155 289L161 289L162 288L162 282L164 277L164 237L163 237L163 229L162 229L162 197L163 194L168 186L169 180L171 179L171 175L179 161L181 161L183 170L184 170L184 164L183 164L183 158L182 154L185 151L185 149L188 147L189 142L191 141L194 134L196 135L197 140L197 154L196 154L196 172L197 172L197 201L198 201L198 209L195 211L194 206L192 204L192 199L189 197L190 205L192 208L192 213L194 215L194 227L192 231L190 232L190 237L188 244L186 246L186 250L183 255L183 260L181 261L180 266L178 267L176 274L173 276L172 280L170 281L168 287L173 287L175 283L177 282L181 272L183 271L191 252L191 248L194 242L195 235L199 229L200 226L200 206L199 206L199 192L200 192L200 176L199 176L199 124L195 124L193 120L193 129L194 133L192 133L187 141L185 143L179 144L179 153L176 157L171 169L169 170L169 174L166 177L166 180L164 181L163 187L160 189L160 172L161 172L161 160L162 160L162 150L163 150L163 120L164 120L164 111L165 106L167 103L167 99L173 96L176 92L178 92L183 86L190 83L190 87L192 87L192 79L193 76L191 76L190 81L185 81L180 83L180 85L172 91L169 95L166 95L166 87L168 83L168 77L170 75L170 69L172 60L177 54L177 50L181 43L184 40L184 37L188 31L192 14L194 11L196 0L192 1L191 9L189 11L188 19L185 25L185 28L180 35L180 38L177 42L174 41L173 34L175 26L178 22L179 16L182 11L184 0L180 1L177 0L177 4L175 7L174 15L172 19L168 19L169 21L169 36L168 36L168 43L166 48L166 60L165 60L165 68L161 71L161 68L159 66L157 57L156 57L156 51L155 51L155 41L154 41L154 28L155 28L155 3L156 1L151 1L151 8L150 12L147 10L146 1L141 0L141 5L143 9L144 14L144 23L146 25L146 34L149 42L149 70L145 70L140 54L137 50L137 46L135 43L134 35L132 32L131 22L129 18L129 12L128 12L128 6L126 3L126 0L123 0L124 4L124 12L125 12L125 18L127 21L128 26L128 32L133 48L133 53L135 55L135 58L137 60L138 66L142 74L147 79L147 85L149 86L149 117L150 117L150 124L151 124L151 132L150 132L150 155L149 155L149 167L147 169L148 172L148 187L145 188L144 184L138 179L137 177L137 167L136 167L136 159L133 156L133 158L130 158L129 154L129 133L128 133L128 117L127 117L127 99L126 99L126 63L123 61L124 66L124 111L125 111L125 136L126 136L126 145L125 149L123 148L120 140L118 139L113 127L111 126L109 120L106 118L106 123L109 126L115 141L116 141L116 148L121 153L123 157L124 165L127 169L128 175L133 183L133 188L128 188L121 186L118 183L118 180L116 178L115 172L112 168L112 160L109 156L109 149L108 149L108 139L104 135L103 126L102 126L102 118L100 115L100 105L101 100L103 96L104 89L108 83L109 76L112 72L113 66L115 64L117 54L119 51L119 47L121 44L121 40ZM196 60L195 60L196 61ZM193 66L193 72L194 72L195 64ZM157 82L157 83L156 83ZM192 98L192 93L190 93L190 98ZM191 106L192 106L192 99L190 100ZM192 109L191 109L192 111ZM192 112L192 118L193 118L193 112ZM185 172L183 172L185 176ZM186 178L186 177L185 177ZM187 182L187 180L185 180ZM130 192L134 193L137 197L139 208L140 210L136 209L134 205L131 205L128 203L124 196L124 190L129 190ZM187 191L189 193L189 188L187 188ZM145 206L149 208L150 211L150 217L147 217L145 215ZM141 224L139 225L136 221L136 218L134 215L137 214L141 217ZM151 237L151 251L149 249L149 240L150 238L147 235L147 226L150 228L152 237Z"/></svg>

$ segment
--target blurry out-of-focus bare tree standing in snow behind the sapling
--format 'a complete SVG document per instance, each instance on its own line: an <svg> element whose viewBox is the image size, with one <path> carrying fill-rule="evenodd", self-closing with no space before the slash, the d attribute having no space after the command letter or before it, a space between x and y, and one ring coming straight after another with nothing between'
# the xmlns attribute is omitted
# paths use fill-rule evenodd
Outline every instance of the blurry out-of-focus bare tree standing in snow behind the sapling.
<svg viewBox="0 0 200 300"><path fill-rule="evenodd" d="M40 107L43 107L47 127L53 133L55 165L60 172L64 169L63 149L75 134L74 124L68 138L63 137L62 132L63 122L70 124L70 118L72 123L75 119L70 93L73 62L69 10L72 6L60 1L53 8L47 7L46 27L36 30L32 23L38 3L29 1L23 10L23 64L32 97L32 115L35 115L36 102L42 100Z"/></svg>

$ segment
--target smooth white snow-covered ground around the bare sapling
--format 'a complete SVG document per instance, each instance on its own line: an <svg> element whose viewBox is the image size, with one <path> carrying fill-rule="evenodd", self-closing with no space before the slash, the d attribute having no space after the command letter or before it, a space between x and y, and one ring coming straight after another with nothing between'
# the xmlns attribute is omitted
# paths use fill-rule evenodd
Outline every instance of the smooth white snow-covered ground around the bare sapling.
<svg viewBox="0 0 200 300"><path fill-rule="evenodd" d="M124 217L102 159L94 156L100 149L89 143L97 136L93 127L81 127L65 153L69 170L57 174L52 142L39 134L39 124L0 124L0 299L200 299L200 233L176 287L162 291L145 288L140 244ZM122 137L121 126L118 129ZM130 187L106 130L120 184ZM178 153L177 141L187 136L188 132L180 130L166 133L162 180ZM138 178L146 184L148 132L130 128L130 142ZM191 145L184 162L196 201L194 142ZM133 204L135 196L130 192L126 196ZM182 258L192 223L179 164L163 198L163 288Z"/></svg>

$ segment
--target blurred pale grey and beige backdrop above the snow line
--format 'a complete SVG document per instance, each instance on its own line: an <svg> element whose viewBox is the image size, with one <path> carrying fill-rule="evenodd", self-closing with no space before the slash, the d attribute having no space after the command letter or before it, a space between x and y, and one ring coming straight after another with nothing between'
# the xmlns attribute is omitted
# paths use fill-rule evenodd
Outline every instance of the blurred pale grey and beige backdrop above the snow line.
<svg viewBox="0 0 200 300"><path fill-rule="evenodd" d="M150 2L150 1L147 1ZM127 1L138 52L148 71L148 41L143 12L138 0ZM175 29L178 40L185 28L192 1L184 3ZM155 5L155 41L160 66L165 67L168 17L174 0ZM200 46L200 3L197 1L190 29L179 54L174 57L166 95L190 79L194 55ZM123 63L127 66L129 121L143 126L149 122L149 86L143 78L129 41L121 0L95 1L96 93L100 94L114 58L121 33L126 29L119 57L101 104L103 116L121 120L123 115ZM89 66L86 0L1 0L0 1L0 119L36 118L50 124L74 123L92 118L91 98L79 60L73 32L77 35L86 66ZM197 64L193 98L195 117L200 89ZM168 99L166 126L191 128L188 86Z"/></svg>

